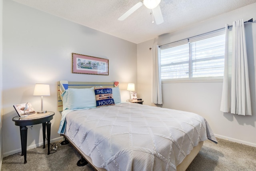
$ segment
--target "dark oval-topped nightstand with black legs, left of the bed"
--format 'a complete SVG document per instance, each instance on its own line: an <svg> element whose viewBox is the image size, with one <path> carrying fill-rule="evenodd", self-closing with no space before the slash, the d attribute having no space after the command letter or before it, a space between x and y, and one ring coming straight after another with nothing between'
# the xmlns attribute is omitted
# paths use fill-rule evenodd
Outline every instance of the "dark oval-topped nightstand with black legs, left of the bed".
<svg viewBox="0 0 256 171"><path fill-rule="evenodd" d="M15 125L20 126L20 141L21 141L21 155L24 155L24 164L27 163L27 136L28 136L28 125L36 125L42 123L43 126L43 140L45 148L45 131L47 129L47 145L48 145L48 155L50 154L50 135L51 135L51 122L53 119L53 115L55 113L52 111L48 111L43 114L32 114L28 115L28 118L20 118L16 116L12 118L12 121L15 122Z"/></svg>

